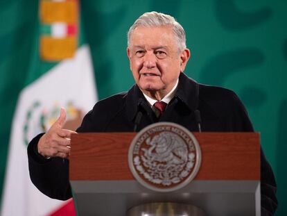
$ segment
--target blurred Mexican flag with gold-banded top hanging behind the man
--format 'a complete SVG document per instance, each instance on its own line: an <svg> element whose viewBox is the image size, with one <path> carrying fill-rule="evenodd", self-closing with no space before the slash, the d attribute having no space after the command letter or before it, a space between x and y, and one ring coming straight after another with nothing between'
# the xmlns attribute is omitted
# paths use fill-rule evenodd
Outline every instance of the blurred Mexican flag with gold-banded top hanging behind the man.
<svg viewBox="0 0 287 216"><path fill-rule="evenodd" d="M64 128L76 130L96 102L89 47L79 42L78 9L78 1L40 1L35 54L26 68L29 81L19 93L12 120L1 199L3 216L76 215L72 199L50 199L35 188L28 174L26 149L35 135L55 122L60 108L67 111ZM43 68L46 72L39 73Z"/></svg>

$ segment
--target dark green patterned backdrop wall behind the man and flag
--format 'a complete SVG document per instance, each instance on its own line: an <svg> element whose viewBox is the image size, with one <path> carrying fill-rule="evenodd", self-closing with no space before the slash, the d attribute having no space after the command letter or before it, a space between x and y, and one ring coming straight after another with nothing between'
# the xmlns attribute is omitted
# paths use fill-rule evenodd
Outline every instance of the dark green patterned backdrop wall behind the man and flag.
<svg viewBox="0 0 287 216"><path fill-rule="evenodd" d="M277 178L277 215L286 215L287 1L82 0L80 6L100 99L134 83L126 33L139 15L156 10L184 26L191 49L185 73L230 88L243 100ZM0 192L19 92L31 73L40 76L55 65L38 57L37 9L38 1L0 1Z"/></svg>

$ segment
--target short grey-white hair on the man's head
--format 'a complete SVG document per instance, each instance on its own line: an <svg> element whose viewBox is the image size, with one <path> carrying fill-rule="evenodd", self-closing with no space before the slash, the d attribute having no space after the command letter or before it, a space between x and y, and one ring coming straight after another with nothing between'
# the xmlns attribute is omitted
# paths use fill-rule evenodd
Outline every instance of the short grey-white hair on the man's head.
<svg viewBox="0 0 287 216"><path fill-rule="evenodd" d="M173 28L173 33L177 40L178 51L186 49L186 36L185 31L182 26L176 22L175 18L170 15L165 15L164 13L158 12L147 12L141 15L135 22L130 26L128 31L128 47L130 47L130 40L132 33L139 26L146 27L159 27L159 26L171 26Z"/></svg>

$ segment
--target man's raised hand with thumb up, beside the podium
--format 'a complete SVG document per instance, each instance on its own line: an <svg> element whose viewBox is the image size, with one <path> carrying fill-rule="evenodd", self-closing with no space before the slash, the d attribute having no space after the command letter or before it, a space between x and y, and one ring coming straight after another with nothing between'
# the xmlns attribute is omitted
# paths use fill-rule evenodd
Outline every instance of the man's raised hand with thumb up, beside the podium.
<svg viewBox="0 0 287 216"><path fill-rule="evenodd" d="M76 133L63 129L66 111L61 108L60 117L38 142L38 152L45 158L69 158L71 150L71 134Z"/></svg>

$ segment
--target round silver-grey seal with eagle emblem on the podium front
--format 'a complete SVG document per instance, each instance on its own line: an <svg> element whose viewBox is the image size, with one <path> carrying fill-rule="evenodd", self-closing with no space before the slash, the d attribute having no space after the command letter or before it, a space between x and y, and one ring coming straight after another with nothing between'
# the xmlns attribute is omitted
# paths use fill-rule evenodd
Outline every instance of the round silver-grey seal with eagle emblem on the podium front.
<svg viewBox="0 0 287 216"><path fill-rule="evenodd" d="M171 122L143 128L132 140L128 153L134 178L158 192L171 192L190 183L200 162L200 146L193 134Z"/></svg>

